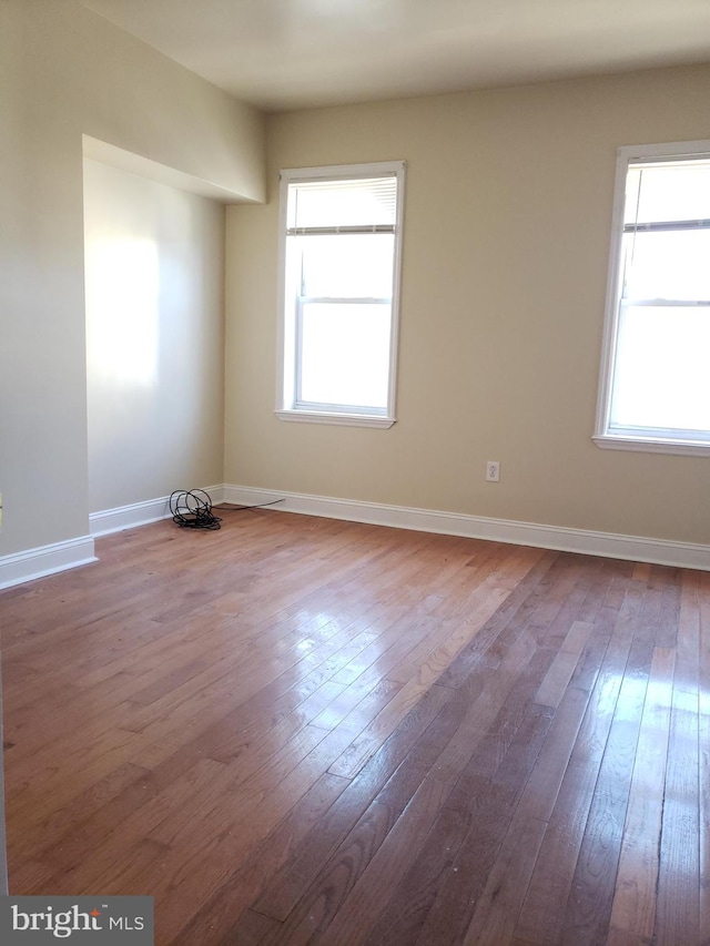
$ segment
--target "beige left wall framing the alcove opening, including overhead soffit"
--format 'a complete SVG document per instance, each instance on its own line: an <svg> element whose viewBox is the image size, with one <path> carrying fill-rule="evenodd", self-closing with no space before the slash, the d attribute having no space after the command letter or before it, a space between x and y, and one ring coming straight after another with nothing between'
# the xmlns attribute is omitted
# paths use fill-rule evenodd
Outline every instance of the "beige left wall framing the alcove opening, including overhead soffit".
<svg viewBox="0 0 710 946"><path fill-rule="evenodd" d="M89 531L82 133L260 200L263 119L77 0L3 0L0 128L1 558Z"/></svg>

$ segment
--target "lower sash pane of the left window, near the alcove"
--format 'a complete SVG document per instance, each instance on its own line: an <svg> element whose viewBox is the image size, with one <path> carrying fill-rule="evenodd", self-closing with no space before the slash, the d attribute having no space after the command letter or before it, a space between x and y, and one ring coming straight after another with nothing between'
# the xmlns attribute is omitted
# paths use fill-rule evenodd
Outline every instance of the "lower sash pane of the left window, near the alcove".
<svg viewBox="0 0 710 946"><path fill-rule="evenodd" d="M389 314L384 304L304 304L301 400L385 409Z"/></svg>

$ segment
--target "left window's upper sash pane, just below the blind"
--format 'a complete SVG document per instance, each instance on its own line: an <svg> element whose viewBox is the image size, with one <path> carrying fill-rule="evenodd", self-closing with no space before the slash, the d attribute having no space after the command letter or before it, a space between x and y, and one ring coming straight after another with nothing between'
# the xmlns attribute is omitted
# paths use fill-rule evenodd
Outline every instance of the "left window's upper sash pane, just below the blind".
<svg viewBox="0 0 710 946"><path fill-rule="evenodd" d="M395 237L392 233L300 236L303 295L390 298Z"/></svg>

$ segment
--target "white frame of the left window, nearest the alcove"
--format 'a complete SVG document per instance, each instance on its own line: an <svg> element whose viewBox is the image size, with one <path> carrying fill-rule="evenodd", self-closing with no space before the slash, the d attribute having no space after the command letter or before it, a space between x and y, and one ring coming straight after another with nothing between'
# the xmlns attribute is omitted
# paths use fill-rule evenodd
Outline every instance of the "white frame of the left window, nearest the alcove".
<svg viewBox="0 0 710 946"><path fill-rule="evenodd" d="M394 274L392 291L392 318L389 330L389 373L387 406L379 409L357 409L343 405L314 409L296 401L297 330L296 314L286 301L286 228L288 185L297 181L353 180L394 174L397 179L397 213L395 222ZM288 167L281 172L278 208L278 336L277 390L275 414L281 420L313 424L338 424L357 427L392 427L396 421L397 340L399 334L399 285L402 269L402 234L404 218L404 161L381 161L368 164L334 164L322 167Z"/></svg>

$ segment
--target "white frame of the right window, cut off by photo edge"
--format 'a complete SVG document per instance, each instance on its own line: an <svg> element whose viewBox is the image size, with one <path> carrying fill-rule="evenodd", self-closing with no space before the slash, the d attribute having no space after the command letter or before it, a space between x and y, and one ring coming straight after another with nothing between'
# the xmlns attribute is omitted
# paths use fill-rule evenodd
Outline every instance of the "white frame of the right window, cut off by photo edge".
<svg viewBox="0 0 710 946"><path fill-rule="evenodd" d="M613 384L617 335L619 330L619 298L621 281L621 241L626 202L626 181L629 165L638 161L662 161L663 159L710 157L710 141L681 141L666 144L626 145L617 151L617 171L613 194L613 216L609 251L609 279L607 284L606 315L602 336L599 394L594 441L598 447L611 450L638 450L643 452L710 456L710 441L684 439L677 431L631 435L610 429L611 395Z"/></svg>

